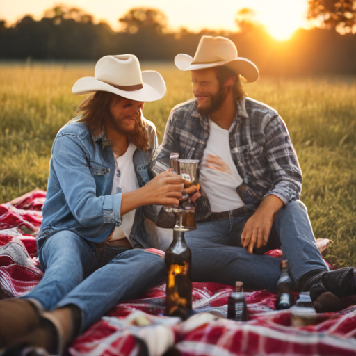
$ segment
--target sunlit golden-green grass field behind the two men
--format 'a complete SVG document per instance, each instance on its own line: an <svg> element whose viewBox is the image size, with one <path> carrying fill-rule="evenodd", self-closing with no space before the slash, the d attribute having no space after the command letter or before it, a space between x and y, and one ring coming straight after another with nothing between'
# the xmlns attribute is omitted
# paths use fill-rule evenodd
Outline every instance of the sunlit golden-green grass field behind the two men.
<svg viewBox="0 0 356 356"><path fill-rule="evenodd" d="M72 95L72 85L93 68L0 65L0 202L46 189L54 137L83 99ZM168 87L144 110L161 140L170 109L192 97L189 73L165 64L144 69L159 70ZM315 236L333 241L328 261L356 266L356 78L262 78L246 88L276 108L289 128Z"/></svg>

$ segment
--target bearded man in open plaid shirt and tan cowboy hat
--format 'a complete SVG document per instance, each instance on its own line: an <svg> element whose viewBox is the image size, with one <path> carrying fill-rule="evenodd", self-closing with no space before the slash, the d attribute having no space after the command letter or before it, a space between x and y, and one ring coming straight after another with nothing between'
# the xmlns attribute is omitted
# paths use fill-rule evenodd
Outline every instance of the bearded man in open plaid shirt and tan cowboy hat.
<svg viewBox="0 0 356 356"><path fill-rule="evenodd" d="M231 40L208 36L194 58L178 54L175 64L191 71L195 99L172 109L156 161L169 164L178 152L201 162L197 229L186 233L193 280L276 289L280 259L261 254L282 245L294 289L311 291L320 312L337 309L339 297L356 293L354 271L329 272L318 251L286 124L241 83L259 78L256 65Z"/></svg>

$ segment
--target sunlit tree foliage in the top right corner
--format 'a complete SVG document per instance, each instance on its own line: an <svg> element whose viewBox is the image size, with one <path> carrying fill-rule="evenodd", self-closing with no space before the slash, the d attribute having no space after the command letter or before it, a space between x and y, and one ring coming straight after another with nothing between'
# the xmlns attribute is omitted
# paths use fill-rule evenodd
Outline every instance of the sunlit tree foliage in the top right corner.
<svg viewBox="0 0 356 356"><path fill-rule="evenodd" d="M356 33L356 0L309 0L307 18L341 35Z"/></svg>

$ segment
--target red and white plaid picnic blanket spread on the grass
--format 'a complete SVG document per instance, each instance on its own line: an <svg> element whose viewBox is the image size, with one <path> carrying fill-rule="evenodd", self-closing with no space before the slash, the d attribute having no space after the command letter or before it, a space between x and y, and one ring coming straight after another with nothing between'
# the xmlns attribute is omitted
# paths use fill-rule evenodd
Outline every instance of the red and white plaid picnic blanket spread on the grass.
<svg viewBox="0 0 356 356"><path fill-rule="evenodd" d="M24 296L44 272L36 258L35 236L46 193L32 191L0 205L0 298ZM323 241L321 241L323 245ZM323 246L321 246L321 249ZM163 253L163 252L162 252ZM280 255L279 250L270 254ZM291 325L291 310L275 311L275 293L245 293L249 321L226 314L232 286L193 283L193 308L201 313L182 322L163 316L165 285L116 305L68 349L73 356L163 355L355 355L356 300L341 312L320 314L320 323Z"/></svg>

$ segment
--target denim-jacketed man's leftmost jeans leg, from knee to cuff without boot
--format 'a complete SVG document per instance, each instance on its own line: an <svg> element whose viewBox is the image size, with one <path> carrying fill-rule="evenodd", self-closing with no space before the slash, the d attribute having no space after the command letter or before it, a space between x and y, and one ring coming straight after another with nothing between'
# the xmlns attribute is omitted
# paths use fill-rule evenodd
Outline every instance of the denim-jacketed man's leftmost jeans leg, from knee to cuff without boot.
<svg viewBox="0 0 356 356"><path fill-rule="evenodd" d="M44 277L24 298L38 300L52 309L97 268L95 252L74 232L61 231L51 236L40 251Z"/></svg>

